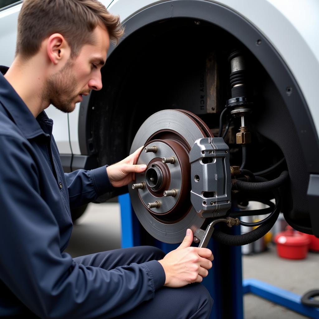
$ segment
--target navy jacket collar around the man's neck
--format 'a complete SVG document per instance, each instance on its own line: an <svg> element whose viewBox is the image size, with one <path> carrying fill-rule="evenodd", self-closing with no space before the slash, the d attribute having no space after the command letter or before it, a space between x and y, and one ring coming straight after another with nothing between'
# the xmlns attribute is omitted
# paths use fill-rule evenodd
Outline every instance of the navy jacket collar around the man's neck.
<svg viewBox="0 0 319 319"><path fill-rule="evenodd" d="M29 108L4 78L8 67L0 66L0 102L27 139L51 137L53 121L42 111L35 119Z"/></svg>

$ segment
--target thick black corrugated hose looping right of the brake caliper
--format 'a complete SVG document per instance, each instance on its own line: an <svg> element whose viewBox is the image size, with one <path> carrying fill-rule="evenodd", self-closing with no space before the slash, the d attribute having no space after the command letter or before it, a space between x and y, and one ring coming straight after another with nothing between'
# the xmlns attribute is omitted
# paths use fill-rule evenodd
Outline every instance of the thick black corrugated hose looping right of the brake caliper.
<svg viewBox="0 0 319 319"><path fill-rule="evenodd" d="M279 192L278 192L278 187L283 185L284 182L288 179L289 174L287 171L284 171L280 174L278 178L276 178L273 181L268 181L263 177L256 176L256 183L253 182L242 182L242 181L237 181L239 183L236 186L237 189L242 189L242 190L249 190L249 191L267 191L267 190L272 190L274 197L275 197L275 208L274 211L267 217L267 220L254 230L252 230L249 233L246 234L241 234L241 235L229 235L225 234L220 230L215 229L212 237L225 245L232 245L232 246L242 246L242 245L247 245L250 244L260 238L262 238L265 234L267 234L272 226L274 226L276 220L278 219L279 213L280 213L280 197L279 197ZM243 183L243 184L242 184ZM235 185L236 185L235 184ZM250 185L247 185L250 184Z"/></svg>

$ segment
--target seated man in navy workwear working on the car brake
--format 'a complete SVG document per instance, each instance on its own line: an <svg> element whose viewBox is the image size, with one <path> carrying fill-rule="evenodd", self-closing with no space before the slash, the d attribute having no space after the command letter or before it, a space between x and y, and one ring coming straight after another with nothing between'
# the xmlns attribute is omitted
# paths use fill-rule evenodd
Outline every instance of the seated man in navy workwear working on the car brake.
<svg viewBox="0 0 319 319"><path fill-rule="evenodd" d="M16 56L0 74L0 317L207 318L212 299L199 284L211 268L206 248L164 253L143 246L73 258L70 208L133 181L141 149L111 165L63 173L53 104L72 112L102 88L119 18L97 0L25 0Z"/></svg>

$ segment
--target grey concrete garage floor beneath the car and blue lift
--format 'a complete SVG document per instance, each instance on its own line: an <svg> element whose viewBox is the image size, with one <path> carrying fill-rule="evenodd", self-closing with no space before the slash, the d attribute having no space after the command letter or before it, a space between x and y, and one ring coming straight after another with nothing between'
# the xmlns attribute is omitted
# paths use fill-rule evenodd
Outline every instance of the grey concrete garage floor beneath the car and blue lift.
<svg viewBox="0 0 319 319"><path fill-rule="evenodd" d="M72 257L121 248L119 204L90 204L74 226L69 247ZM274 246L266 252L243 256L243 278L256 278L268 284L303 294L319 289L319 254L309 253L304 260L279 258ZM306 318L255 295L244 296L245 319Z"/></svg>

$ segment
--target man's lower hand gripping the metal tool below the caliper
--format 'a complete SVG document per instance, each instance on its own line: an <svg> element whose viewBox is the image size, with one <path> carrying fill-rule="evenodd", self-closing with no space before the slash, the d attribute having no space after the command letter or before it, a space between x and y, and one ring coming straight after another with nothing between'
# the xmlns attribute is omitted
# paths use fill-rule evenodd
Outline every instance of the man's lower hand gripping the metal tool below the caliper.
<svg viewBox="0 0 319 319"><path fill-rule="evenodd" d="M159 260L166 275L164 286L182 287L201 282L208 275L213 254L207 248L190 247L192 241L193 232L188 229L181 245Z"/></svg>

